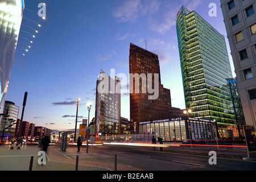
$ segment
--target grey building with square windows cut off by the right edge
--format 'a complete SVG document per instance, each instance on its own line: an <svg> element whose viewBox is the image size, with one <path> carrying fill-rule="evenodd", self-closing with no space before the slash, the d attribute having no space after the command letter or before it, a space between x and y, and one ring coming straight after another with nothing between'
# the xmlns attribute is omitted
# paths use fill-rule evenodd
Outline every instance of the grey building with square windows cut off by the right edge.
<svg viewBox="0 0 256 182"><path fill-rule="evenodd" d="M256 128L256 2L221 0L246 125Z"/></svg>

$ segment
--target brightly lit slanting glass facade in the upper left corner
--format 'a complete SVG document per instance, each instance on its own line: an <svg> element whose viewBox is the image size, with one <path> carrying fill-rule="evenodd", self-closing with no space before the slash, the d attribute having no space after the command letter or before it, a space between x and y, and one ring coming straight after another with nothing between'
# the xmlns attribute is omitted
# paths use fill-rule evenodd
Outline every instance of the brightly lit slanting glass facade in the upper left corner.
<svg viewBox="0 0 256 182"><path fill-rule="evenodd" d="M24 0L0 1L0 113L3 113L22 22Z"/></svg>

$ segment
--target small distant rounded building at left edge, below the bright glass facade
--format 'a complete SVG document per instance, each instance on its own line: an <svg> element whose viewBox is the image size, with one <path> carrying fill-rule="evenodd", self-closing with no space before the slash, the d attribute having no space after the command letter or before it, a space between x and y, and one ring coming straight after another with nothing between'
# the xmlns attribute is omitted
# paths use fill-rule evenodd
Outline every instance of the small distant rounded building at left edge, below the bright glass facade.
<svg viewBox="0 0 256 182"><path fill-rule="evenodd" d="M1 118L0 131L5 130L5 138L11 140L14 138L16 121L18 119L19 107L15 105L14 102L5 101L5 107L3 109L3 114Z"/></svg>

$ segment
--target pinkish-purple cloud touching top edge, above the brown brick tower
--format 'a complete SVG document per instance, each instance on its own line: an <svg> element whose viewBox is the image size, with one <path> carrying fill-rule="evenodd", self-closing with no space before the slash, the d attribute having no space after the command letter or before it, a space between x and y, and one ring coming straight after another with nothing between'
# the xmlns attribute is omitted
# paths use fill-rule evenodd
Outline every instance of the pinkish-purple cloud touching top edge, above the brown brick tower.
<svg viewBox="0 0 256 182"><path fill-rule="evenodd" d="M127 0L114 9L112 15L118 22L135 22L140 16L148 16L159 10L158 0Z"/></svg>

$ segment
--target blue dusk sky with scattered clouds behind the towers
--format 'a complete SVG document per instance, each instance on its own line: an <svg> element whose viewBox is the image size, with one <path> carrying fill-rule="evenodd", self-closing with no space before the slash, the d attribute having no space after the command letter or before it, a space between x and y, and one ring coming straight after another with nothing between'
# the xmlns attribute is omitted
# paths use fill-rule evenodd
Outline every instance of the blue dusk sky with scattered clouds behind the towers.
<svg viewBox="0 0 256 182"><path fill-rule="evenodd" d="M28 92L23 121L52 130L75 129L77 98L81 99L77 128L88 118L88 101L94 102L89 116L90 120L94 117L101 69L108 75L114 69L115 75L124 73L129 78L130 43L159 56L161 81L171 90L172 106L185 109L176 34L176 15L181 6L195 10L226 38L219 0L45 2L43 20L37 14L40 1L25 0L19 36L33 43L18 39L6 100L19 106L21 118L24 93ZM217 5L216 16L209 16L210 3ZM26 44L31 45L28 52L24 51ZM235 76L227 38L226 46ZM130 119L129 111L129 95L122 94L121 117Z"/></svg>

